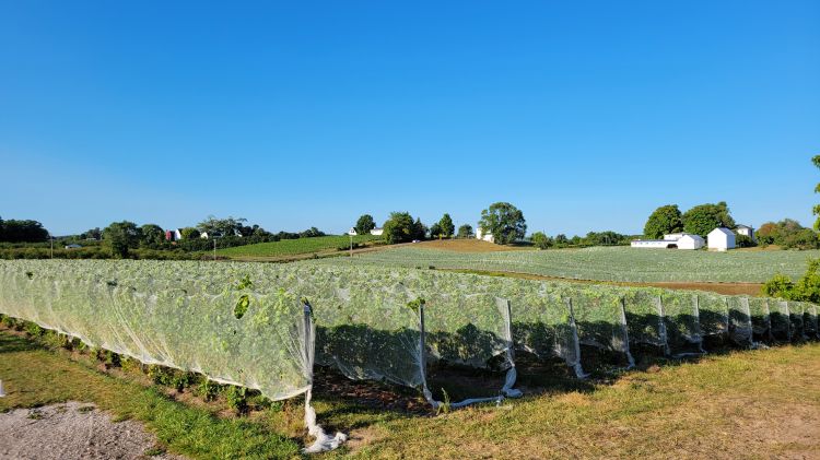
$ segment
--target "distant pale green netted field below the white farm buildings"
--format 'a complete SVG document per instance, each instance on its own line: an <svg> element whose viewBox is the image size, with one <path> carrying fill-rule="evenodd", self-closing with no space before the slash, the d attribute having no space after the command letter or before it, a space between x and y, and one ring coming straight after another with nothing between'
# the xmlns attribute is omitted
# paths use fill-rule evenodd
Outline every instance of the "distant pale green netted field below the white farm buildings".
<svg viewBox="0 0 820 460"><path fill-rule="evenodd" d="M503 271L574 280L619 282L765 282L776 273L793 279L806 271L808 259L820 250L704 250L633 249L595 247L587 249L523 250L505 252L456 252L399 247L360 255L351 260L320 263L362 263L386 267L418 267Z"/></svg>

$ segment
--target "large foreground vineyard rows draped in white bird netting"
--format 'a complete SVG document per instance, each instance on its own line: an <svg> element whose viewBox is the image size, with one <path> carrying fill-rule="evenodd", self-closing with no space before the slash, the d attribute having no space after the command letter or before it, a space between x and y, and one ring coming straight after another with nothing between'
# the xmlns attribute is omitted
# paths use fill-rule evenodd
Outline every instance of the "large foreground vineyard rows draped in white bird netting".
<svg viewBox="0 0 820 460"><path fill-rule="evenodd" d="M516 353L581 378L639 353L702 354L818 338L817 307L765 298L335 264L0 261L0 312L147 364L260 390L306 394L314 363L418 389L434 408L520 396ZM487 398L437 401L430 363L505 375Z"/></svg>

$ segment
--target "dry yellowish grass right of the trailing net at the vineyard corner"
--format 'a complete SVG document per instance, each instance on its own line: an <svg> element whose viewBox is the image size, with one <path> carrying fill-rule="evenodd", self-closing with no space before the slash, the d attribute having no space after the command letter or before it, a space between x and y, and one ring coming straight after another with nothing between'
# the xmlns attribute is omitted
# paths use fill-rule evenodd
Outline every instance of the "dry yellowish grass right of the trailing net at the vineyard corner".
<svg viewBox="0 0 820 460"><path fill-rule="evenodd" d="M818 458L820 344L708 356L613 385L406 418L356 458ZM356 433L353 432L353 437Z"/></svg>

